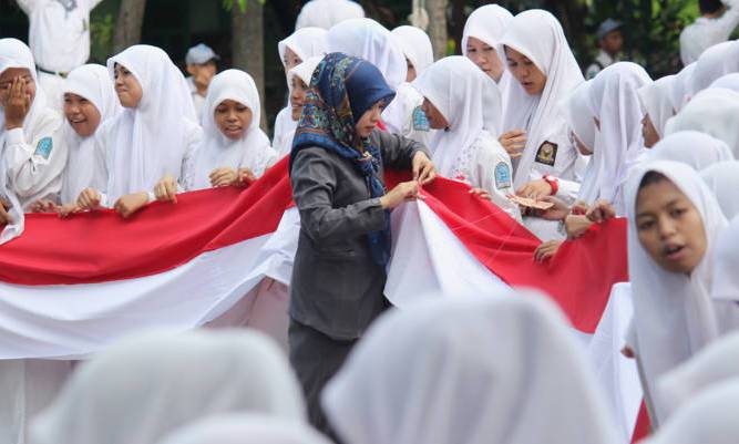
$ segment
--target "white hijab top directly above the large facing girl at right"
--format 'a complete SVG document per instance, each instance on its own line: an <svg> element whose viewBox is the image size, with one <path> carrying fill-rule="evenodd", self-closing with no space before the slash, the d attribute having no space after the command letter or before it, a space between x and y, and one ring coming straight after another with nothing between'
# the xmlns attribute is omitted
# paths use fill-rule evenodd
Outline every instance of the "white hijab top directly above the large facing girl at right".
<svg viewBox="0 0 739 444"><path fill-rule="evenodd" d="M697 131L680 131L668 135L649 149L648 156L655 161L681 162L697 172L733 159L727 144Z"/></svg>

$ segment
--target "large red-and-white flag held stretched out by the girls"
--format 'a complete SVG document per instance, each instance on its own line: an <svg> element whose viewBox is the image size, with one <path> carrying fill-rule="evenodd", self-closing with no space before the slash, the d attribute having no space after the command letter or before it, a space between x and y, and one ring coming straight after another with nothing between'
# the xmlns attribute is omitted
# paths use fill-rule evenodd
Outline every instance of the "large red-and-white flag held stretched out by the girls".
<svg viewBox="0 0 739 444"><path fill-rule="evenodd" d="M389 173L388 186L403 178ZM628 280L625 220L595 226L537 264L540 239L469 190L438 178L392 213L388 299L411 309L429 295L533 287L588 347L613 285ZM27 215L23 235L0 246L0 359L81 358L140 329L193 329L237 307L242 320L279 323L298 231L287 158L246 189L186 193L130 219ZM603 348L613 358L613 345Z"/></svg>

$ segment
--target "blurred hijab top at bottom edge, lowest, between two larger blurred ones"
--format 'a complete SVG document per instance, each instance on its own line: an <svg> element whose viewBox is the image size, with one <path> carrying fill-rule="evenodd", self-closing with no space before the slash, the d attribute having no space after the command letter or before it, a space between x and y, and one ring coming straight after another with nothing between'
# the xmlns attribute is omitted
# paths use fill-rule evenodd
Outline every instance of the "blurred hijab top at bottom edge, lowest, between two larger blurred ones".
<svg viewBox="0 0 739 444"><path fill-rule="evenodd" d="M207 417L179 428L158 444L330 444L309 425L258 414Z"/></svg>

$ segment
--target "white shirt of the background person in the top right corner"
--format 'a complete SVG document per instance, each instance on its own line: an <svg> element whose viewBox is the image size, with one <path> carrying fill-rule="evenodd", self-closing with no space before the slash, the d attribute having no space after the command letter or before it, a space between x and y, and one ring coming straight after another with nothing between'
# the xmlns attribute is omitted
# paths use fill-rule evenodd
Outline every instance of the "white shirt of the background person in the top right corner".
<svg viewBox="0 0 739 444"><path fill-rule="evenodd" d="M680 33L680 59L684 65L698 60L708 48L725 42L739 25L739 0L725 0L728 7L717 19L698 18Z"/></svg>

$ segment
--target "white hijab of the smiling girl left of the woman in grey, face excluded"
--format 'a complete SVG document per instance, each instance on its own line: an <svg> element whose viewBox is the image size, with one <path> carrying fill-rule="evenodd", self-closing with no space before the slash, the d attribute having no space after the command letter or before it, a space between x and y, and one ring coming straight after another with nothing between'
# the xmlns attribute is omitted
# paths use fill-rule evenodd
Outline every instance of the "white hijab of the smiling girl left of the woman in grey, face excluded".
<svg viewBox="0 0 739 444"><path fill-rule="evenodd" d="M215 121L216 107L225 100L252 110L252 124L237 141L226 137ZM209 175L216 168L249 168L259 177L277 159L277 153L269 146L269 137L259 128L259 92L249 74L226 70L213 78L203 110L203 142L195 153L191 189L209 188Z"/></svg>

